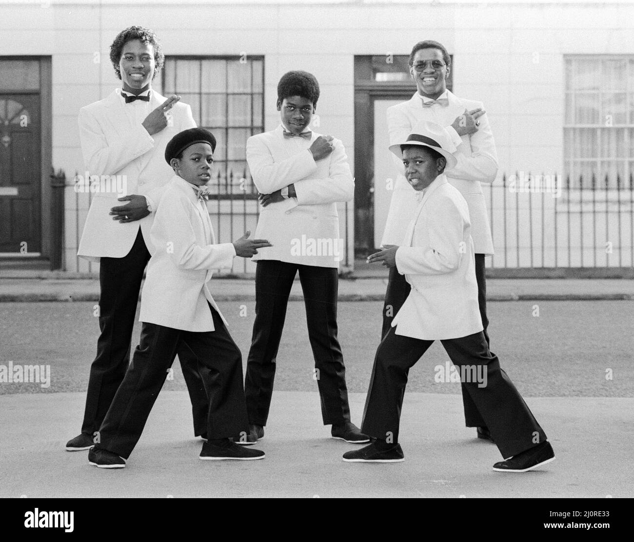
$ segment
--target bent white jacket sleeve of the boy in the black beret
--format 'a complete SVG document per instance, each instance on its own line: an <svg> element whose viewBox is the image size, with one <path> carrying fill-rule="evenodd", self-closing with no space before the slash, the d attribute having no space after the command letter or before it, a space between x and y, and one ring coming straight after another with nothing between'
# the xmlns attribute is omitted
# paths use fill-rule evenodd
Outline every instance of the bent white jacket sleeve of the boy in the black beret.
<svg viewBox="0 0 634 542"><path fill-rule="evenodd" d="M165 237L160 239L164 246L157 246L157 249L167 250L174 265L181 269L230 269L236 255L233 243L199 246L192 220L198 220L198 215L186 198L160 205L152 230L162 232Z"/></svg>

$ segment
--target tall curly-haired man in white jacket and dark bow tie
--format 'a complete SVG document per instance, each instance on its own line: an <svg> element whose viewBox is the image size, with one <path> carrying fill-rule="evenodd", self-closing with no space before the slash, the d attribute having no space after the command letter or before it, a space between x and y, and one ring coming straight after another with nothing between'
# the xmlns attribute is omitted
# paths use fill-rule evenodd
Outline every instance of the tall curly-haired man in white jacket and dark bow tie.
<svg viewBox="0 0 634 542"><path fill-rule="evenodd" d="M152 89L164 61L152 30L129 27L120 32L110 46L110 60L121 88L79 111L86 168L100 180L77 255L100 262L100 336L90 367L81 433L68 441L68 451L93 446L94 432L126 374L139 289L150 259L154 211L174 175L164 160L165 146L181 130L196 126L190 106L181 103L179 96L165 98ZM209 405L197 361L187 348L178 357L190 393L194 434L204 436Z"/></svg>

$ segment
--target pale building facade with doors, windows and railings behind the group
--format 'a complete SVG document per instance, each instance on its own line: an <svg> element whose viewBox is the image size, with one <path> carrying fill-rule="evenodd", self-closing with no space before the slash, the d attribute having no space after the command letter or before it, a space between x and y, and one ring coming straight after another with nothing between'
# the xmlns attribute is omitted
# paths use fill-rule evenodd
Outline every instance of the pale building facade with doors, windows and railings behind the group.
<svg viewBox="0 0 634 542"><path fill-rule="evenodd" d="M321 86L314 130L344 142L354 171L354 202L339 206L343 267L375 248L394 176L385 109L415 92L408 54L433 39L451 54L451 89L484 102L496 139L499 178L485 191L496 246L489 265L634 263L634 6L437 0L0 4L5 257L49 257L51 169L62 170L63 268L98 269L76 256L91 198L76 187L86 173L77 114L117 87L109 47L130 25L162 42L155 87L180 94L219 136L209 210L221 242L256 224L245 141L278 125L278 79L302 69ZM542 174L552 180L534 179Z"/></svg>

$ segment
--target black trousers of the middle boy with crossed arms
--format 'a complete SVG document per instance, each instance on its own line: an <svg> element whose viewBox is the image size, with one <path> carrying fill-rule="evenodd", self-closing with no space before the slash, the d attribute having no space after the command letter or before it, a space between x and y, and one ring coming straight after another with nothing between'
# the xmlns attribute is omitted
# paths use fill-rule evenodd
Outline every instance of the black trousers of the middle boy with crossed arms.
<svg viewBox="0 0 634 542"><path fill-rule="evenodd" d="M346 367L337 340L337 268L260 260L256 267L256 320L244 385L250 424L266 425L268 419L288 295L298 271L323 423L350 421Z"/></svg>

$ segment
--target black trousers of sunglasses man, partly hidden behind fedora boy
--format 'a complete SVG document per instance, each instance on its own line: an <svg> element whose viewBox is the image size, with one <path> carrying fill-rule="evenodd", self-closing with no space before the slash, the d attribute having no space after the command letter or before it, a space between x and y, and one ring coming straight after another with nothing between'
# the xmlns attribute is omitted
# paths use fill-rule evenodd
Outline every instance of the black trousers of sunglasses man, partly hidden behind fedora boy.
<svg viewBox="0 0 634 542"><path fill-rule="evenodd" d="M486 332L489 319L486 316L484 254L475 255L475 280L477 280L477 300L482 318L482 327L484 327L484 338L486 339L486 344L489 344L489 334ZM403 306L403 303L405 303L405 299L407 299L409 294L410 284L405 280L405 276L401 275L396 267L391 267L383 305L383 328L381 337L385 337L387 332L391 329L392 320ZM470 394L467 393L464 384L462 384L462 403L465 409L465 425L467 425L467 427L486 427L482 416L478 412Z"/></svg>

